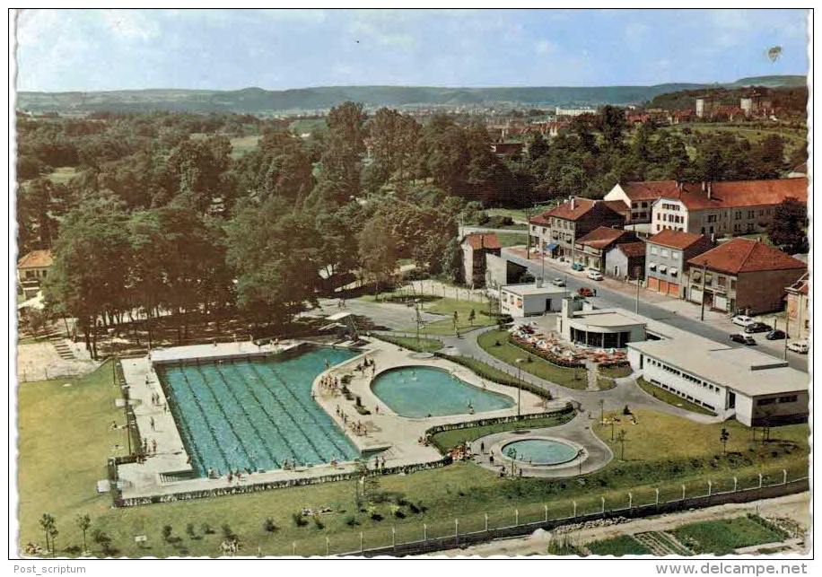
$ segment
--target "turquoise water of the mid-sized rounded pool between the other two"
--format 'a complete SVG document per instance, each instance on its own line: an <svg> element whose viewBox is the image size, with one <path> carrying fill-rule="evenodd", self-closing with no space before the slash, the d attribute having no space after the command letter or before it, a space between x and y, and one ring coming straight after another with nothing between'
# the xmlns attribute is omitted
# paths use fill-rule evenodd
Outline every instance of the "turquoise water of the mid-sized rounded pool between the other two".
<svg viewBox="0 0 822 577"><path fill-rule="evenodd" d="M402 416L442 416L496 411L513 407L513 399L479 389L450 372L434 367L403 367L377 376L372 384L377 397Z"/></svg>

